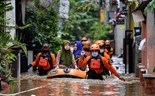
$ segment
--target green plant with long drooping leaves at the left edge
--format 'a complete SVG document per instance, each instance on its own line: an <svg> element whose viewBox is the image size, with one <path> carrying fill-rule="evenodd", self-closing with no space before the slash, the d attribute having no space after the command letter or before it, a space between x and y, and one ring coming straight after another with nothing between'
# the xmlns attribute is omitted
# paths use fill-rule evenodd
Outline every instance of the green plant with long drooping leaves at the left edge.
<svg viewBox="0 0 155 96"><path fill-rule="evenodd" d="M12 63L16 60L15 54L13 54L14 47L19 47L23 49L27 56L26 46L19 42L18 40L13 40L9 33L2 32L0 33L0 72L2 72L2 79L7 80L11 78L12 73Z"/></svg>

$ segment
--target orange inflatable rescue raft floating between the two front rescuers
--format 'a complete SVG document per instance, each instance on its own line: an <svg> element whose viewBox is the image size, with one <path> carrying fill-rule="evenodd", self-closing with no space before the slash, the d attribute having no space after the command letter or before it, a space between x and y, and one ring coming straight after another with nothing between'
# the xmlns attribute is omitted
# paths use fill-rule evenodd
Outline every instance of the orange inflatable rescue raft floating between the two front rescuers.
<svg viewBox="0 0 155 96"><path fill-rule="evenodd" d="M47 78L86 78L86 72L80 69L72 69L72 68L63 68L63 69L52 69L47 74Z"/></svg>

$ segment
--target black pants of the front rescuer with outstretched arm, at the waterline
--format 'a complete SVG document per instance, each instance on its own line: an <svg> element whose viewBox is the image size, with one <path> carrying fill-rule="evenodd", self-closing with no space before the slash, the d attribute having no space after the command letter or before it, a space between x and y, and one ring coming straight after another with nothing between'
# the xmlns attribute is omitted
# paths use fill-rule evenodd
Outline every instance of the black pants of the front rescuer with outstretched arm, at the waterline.
<svg viewBox="0 0 155 96"><path fill-rule="evenodd" d="M100 79L100 80L104 80L103 77L102 77L102 73L97 74L95 72L95 70L89 70L87 72L87 75L88 75L88 78L87 79Z"/></svg>

